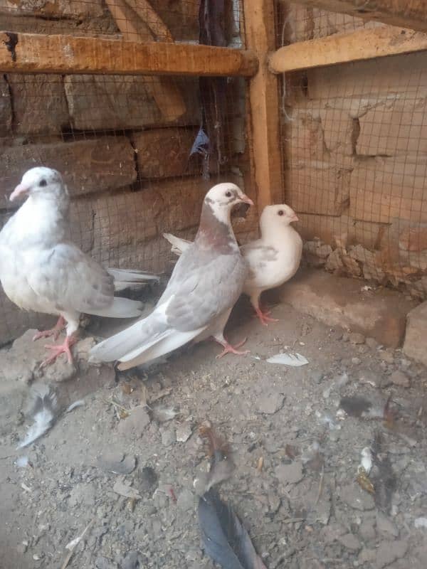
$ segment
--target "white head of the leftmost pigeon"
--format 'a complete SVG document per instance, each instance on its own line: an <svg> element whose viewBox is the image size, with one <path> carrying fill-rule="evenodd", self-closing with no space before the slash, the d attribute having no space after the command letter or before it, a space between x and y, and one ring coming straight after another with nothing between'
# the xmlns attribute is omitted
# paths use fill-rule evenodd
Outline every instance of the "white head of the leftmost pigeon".
<svg viewBox="0 0 427 569"><path fill-rule="evenodd" d="M10 201L21 196L49 196L59 198L66 193L60 173L45 166L37 166L26 171L22 176L21 184L11 193Z"/></svg>

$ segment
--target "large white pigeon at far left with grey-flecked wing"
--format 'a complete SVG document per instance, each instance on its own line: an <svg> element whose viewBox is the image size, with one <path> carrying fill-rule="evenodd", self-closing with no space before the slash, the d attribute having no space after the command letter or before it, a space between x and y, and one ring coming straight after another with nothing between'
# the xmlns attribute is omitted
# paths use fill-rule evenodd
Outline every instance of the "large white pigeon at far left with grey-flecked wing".
<svg viewBox="0 0 427 569"><path fill-rule="evenodd" d="M115 289L135 286L157 277L137 271L105 270L71 243L68 233L70 199L59 172L40 166L28 170L11 193L25 203L0 232L0 282L4 292L21 309L58 315L51 330L34 340L54 336L65 327L63 344L49 344L51 363L60 353L72 361L70 346L78 330L80 314L132 318L142 313L142 303L114 297Z"/></svg>

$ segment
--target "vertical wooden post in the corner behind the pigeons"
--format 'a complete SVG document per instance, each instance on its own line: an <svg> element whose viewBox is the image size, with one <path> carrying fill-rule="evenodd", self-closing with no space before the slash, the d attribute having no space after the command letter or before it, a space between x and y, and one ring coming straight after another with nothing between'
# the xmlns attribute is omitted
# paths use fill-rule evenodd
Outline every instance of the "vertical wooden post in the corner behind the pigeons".
<svg viewBox="0 0 427 569"><path fill-rule="evenodd" d="M244 0L246 45L258 56L258 73L249 83L253 160L259 213L270 203L283 202L280 151L278 78L268 70L268 53L275 50L273 0Z"/></svg>

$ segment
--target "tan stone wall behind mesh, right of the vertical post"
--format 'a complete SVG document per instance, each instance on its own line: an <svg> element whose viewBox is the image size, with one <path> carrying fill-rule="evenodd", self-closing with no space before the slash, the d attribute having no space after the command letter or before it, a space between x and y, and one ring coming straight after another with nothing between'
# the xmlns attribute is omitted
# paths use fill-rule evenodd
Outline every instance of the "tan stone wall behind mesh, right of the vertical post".
<svg viewBox="0 0 427 569"><path fill-rule="evenodd" d="M285 12L285 43L381 26ZM285 199L308 260L427 296L427 66L424 53L285 78Z"/></svg>

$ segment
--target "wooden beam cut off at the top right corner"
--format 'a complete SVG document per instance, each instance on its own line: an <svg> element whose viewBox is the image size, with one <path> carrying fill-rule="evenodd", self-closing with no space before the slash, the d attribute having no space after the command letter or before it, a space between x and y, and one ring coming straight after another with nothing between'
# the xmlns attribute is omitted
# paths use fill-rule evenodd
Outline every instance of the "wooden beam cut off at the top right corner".
<svg viewBox="0 0 427 569"><path fill-rule="evenodd" d="M427 32L426 0L297 0L309 8L342 12L364 20Z"/></svg>

